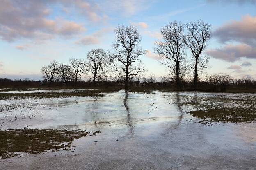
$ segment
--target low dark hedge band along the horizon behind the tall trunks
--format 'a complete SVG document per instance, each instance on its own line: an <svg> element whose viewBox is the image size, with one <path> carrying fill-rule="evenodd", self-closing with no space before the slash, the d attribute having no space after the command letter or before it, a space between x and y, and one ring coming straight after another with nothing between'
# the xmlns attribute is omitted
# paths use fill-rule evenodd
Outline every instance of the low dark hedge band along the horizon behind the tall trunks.
<svg viewBox="0 0 256 170"><path fill-rule="evenodd" d="M215 74L215 75L206 75L206 81L197 81L197 88L199 91L208 91L208 92L226 92L227 89L251 89L256 88L256 81L251 76L246 76L240 79L234 79L229 75L224 74ZM69 81L69 84L65 84L64 81L53 81L51 87L77 87L77 88L88 88L94 87L95 84L92 81L83 81L78 80L75 84L75 81ZM118 87L121 88L124 85L122 79L110 80L108 78L105 81L97 81L97 87ZM30 88L42 88L49 87L48 81L30 81L29 79L24 80L11 80L7 78L0 78L0 86L2 87L30 87ZM149 74L148 77L142 79L131 79L128 81L129 87L137 88L173 88L176 89L176 82L172 81L169 77L163 76L161 81L157 81L154 74ZM181 80L181 89L191 91L194 90L193 80Z"/></svg>

